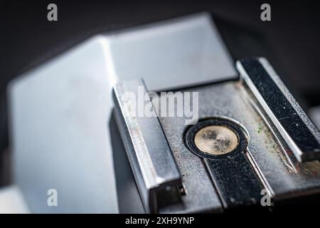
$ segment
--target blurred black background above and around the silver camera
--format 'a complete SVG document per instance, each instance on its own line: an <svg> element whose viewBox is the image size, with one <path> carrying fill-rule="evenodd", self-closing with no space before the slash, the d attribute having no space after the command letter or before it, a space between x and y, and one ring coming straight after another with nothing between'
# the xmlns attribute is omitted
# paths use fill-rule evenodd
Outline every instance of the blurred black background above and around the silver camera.
<svg viewBox="0 0 320 228"><path fill-rule="evenodd" d="M58 6L58 21L47 6ZM260 20L262 3L272 21ZM267 56L302 107L320 105L317 1L0 1L0 150L8 145L6 84L86 38L209 11L234 59Z"/></svg>

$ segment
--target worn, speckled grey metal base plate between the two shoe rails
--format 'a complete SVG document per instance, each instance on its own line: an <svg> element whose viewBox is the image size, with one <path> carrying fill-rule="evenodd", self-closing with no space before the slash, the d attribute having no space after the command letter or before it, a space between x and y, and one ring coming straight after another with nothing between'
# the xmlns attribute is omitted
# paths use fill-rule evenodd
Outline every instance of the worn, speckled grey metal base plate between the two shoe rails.
<svg viewBox="0 0 320 228"><path fill-rule="evenodd" d="M185 91L198 91L199 118L223 115L238 120L245 127L250 137L247 150L252 163L257 165L256 171L259 172L262 183L270 190L274 199L320 191L319 161L299 163L289 151L289 155L285 154L284 150L288 150L287 145L279 135L277 135L278 140L274 136L267 122L258 114L252 97L242 84L230 81ZM183 144L183 131L186 128L184 118L160 118L160 120L181 173L184 174L183 181L186 181L185 175L193 174L195 170L203 172L203 163ZM279 141L282 142L282 146ZM191 194L201 191L202 182L208 182L204 173L203 178L206 180L198 180L191 184L192 191L189 191ZM188 187L186 191L188 192Z"/></svg>

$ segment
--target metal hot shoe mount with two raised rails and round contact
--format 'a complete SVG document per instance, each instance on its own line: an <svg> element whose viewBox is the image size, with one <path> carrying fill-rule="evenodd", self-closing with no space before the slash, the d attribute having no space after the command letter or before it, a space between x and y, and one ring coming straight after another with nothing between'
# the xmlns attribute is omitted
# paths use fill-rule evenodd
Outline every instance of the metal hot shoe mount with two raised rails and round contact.
<svg viewBox="0 0 320 228"><path fill-rule="evenodd" d="M148 83L154 85L139 80L114 86L120 212L273 209L319 193L319 130L266 58L239 60L236 69L232 78L174 85L167 93L171 100L175 92L198 95L192 124L186 116L160 115L170 108L159 105L161 92L171 90L148 94ZM138 114L138 103L149 105L149 115Z"/></svg>

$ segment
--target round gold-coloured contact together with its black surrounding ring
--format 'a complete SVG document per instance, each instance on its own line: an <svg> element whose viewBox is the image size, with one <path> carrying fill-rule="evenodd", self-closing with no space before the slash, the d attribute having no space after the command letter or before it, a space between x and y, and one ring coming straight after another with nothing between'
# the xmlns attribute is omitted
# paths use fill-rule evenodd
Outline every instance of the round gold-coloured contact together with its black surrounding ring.
<svg viewBox="0 0 320 228"><path fill-rule="evenodd" d="M209 118L199 120L186 130L185 143L196 155L215 159L243 152L247 137L233 120Z"/></svg>

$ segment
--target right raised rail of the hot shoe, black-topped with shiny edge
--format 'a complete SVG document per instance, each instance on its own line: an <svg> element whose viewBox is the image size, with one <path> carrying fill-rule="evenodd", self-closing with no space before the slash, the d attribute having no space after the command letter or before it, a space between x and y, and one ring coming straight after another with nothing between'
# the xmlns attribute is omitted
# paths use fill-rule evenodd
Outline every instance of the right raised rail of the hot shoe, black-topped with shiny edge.
<svg viewBox="0 0 320 228"><path fill-rule="evenodd" d="M272 120L299 162L320 158L320 140L309 118L265 58L237 62L240 77Z"/></svg>

